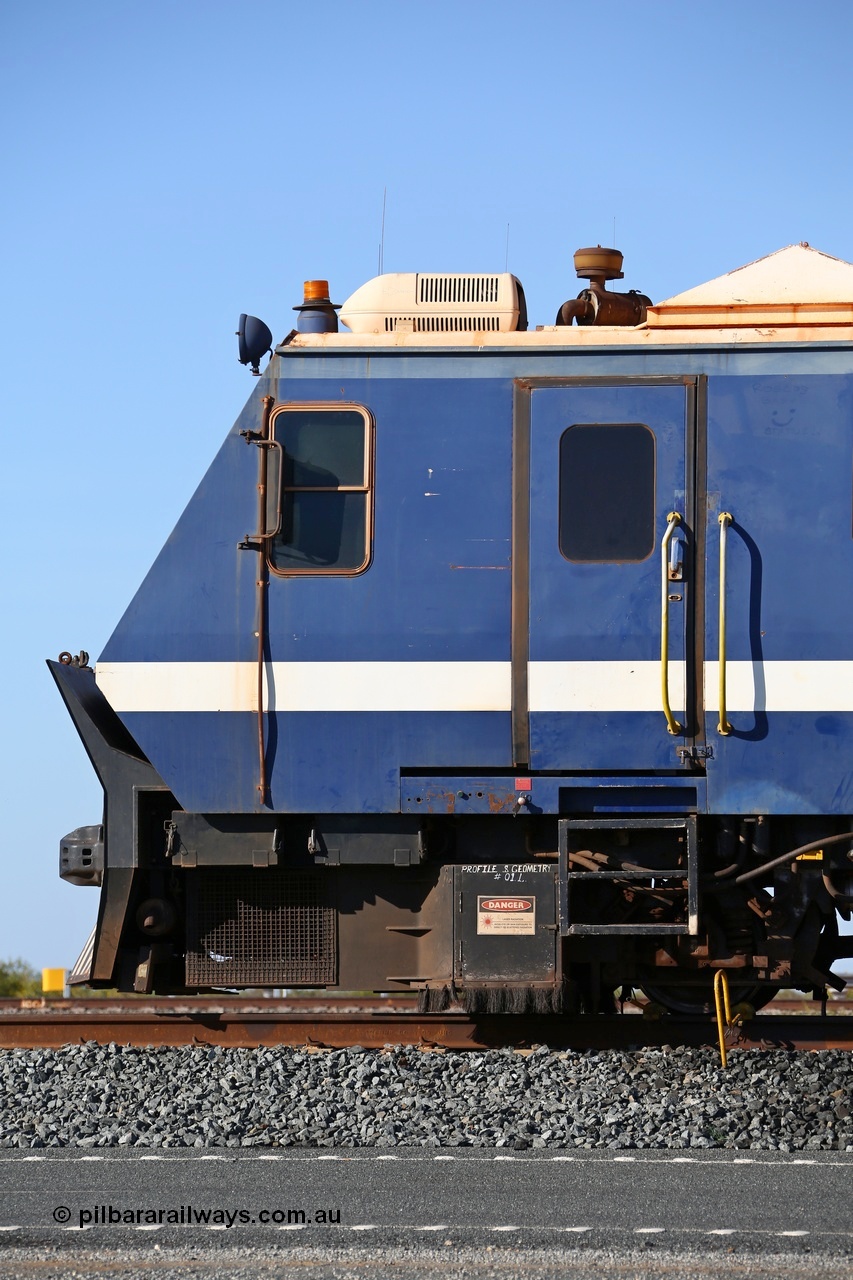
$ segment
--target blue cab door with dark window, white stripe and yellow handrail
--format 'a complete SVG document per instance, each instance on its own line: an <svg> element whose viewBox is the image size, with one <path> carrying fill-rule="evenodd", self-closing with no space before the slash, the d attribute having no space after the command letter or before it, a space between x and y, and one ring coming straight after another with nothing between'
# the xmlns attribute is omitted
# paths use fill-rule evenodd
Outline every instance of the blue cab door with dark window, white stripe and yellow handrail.
<svg viewBox="0 0 853 1280"><path fill-rule="evenodd" d="M695 723L686 698L694 399L684 379L530 389L534 769L681 764L678 748Z"/></svg>

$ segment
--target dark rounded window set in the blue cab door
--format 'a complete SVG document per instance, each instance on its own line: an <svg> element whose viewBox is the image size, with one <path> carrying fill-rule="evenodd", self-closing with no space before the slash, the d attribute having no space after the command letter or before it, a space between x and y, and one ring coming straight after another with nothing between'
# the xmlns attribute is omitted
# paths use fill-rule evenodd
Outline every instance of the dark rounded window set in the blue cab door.
<svg viewBox="0 0 853 1280"><path fill-rule="evenodd" d="M560 438L560 550L588 563L654 549L654 436L643 422L578 422Z"/></svg>

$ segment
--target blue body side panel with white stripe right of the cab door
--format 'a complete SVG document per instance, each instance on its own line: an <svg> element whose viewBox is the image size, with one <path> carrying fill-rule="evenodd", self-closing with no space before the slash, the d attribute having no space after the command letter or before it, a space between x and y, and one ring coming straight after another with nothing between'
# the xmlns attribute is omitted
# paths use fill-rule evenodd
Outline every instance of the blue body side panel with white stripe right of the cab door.
<svg viewBox="0 0 853 1280"><path fill-rule="evenodd" d="M717 813L853 812L853 375L797 372L809 360L708 380Z"/></svg>

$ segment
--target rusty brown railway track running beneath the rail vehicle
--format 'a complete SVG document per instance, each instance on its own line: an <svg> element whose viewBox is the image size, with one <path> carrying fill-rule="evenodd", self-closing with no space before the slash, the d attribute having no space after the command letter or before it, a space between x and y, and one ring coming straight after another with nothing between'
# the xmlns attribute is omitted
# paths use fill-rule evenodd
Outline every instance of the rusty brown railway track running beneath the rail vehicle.
<svg viewBox="0 0 853 1280"><path fill-rule="evenodd" d="M405 996L0 1000L0 1048L50 1048L87 1041L223 1048L406 1044L441 1051L548 1044L617 1050L713 1046L716 1024L710 1016L643 1016L640 1005L626 1005L616 1016L420 1014L415 1001ZM774 1001L767 1011L734 1028L730 1043L743 1048L853 1048L853 1006L836 1000L822 1016L820 1005Z"/></svg>

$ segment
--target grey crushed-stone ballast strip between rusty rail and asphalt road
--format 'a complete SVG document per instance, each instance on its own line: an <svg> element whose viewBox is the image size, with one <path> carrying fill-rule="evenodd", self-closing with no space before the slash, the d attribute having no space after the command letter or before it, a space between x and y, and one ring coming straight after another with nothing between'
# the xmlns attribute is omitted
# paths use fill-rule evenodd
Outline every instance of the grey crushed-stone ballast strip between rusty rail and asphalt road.
<svg viewBox="0 0 853 1280"><path fill-rule="evenodd" d="M0 1147L853 1151L853 1056L9 1050Z"/></svg>

